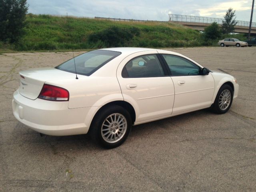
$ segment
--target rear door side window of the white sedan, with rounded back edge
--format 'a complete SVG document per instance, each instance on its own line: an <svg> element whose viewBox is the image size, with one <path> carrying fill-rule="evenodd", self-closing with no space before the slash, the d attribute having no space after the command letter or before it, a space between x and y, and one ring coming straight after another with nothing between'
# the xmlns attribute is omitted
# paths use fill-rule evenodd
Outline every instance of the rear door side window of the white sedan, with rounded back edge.
<svg viewBox="0 0 256 192"><path fill-rule="evenodd" d="M156 55L144 55L130 60L122 70L122 77L160 77L163 68Z"/></svg>

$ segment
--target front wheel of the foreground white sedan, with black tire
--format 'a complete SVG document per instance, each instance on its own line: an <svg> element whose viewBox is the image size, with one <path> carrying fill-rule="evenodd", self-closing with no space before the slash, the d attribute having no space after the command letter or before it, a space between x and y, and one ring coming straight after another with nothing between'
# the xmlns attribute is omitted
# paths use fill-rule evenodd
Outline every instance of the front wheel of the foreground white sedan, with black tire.
<svg viewBox="0 0 256 192"><path fill-rule="evenodd" d="M226 98L223 97L223 94L224 93L228 93L228 92L230 93L230 102L228 102L228 104L227 104L228 106L224 107L224 106L221 105L221 104L223 104L222 101L226 100ZM233 90L232 90L232 88L228 84L222 85L220 87L219 91L218 91L218 94L217 94L217 96L216 96L216 98L214 100L214 103L212 104L212 106L210 108L212 110L212 112L214 112L216 114L224 114L224 113L226 113L229 110L229 108L230 108L230 106L232 104L233 95L234 95ZM226 103L225 103L225 105L226 105Z"/></svg>

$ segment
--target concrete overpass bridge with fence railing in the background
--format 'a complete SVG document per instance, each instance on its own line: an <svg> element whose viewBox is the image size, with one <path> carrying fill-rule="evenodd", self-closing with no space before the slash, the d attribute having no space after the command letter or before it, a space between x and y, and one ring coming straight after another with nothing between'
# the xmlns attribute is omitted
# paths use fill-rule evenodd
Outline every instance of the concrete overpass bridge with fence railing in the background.
<svg viewBox="0 0 256 192"><path fill-rule="evenodd" d="M200 17L200 16L190 16L190 15L178 15L169 14L169 22L175 22L187 26L188 28L203 31L205 27L209 26L213 22L216 22L219 27L222 26L222 21L224 19L220 18L210 18L210 17ZM248 33L250 22L236 20L237 24L235 26L236 33ZM252 36L256 35L256 22L252 22L251 29Z"/></svg>

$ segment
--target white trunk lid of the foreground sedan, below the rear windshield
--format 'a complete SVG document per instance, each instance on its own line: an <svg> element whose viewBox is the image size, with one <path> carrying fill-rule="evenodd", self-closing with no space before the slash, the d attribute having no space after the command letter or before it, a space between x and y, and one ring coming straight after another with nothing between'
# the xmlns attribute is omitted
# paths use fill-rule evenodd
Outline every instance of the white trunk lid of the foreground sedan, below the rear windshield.
<svg viewBox="0 0 256 192"><path fill-rule="evenodd" d="M38 98L46 81L75 78L76 75L70 72L55 68L38 68L20 72L20 86L18 92L29 99Z"/></svg>

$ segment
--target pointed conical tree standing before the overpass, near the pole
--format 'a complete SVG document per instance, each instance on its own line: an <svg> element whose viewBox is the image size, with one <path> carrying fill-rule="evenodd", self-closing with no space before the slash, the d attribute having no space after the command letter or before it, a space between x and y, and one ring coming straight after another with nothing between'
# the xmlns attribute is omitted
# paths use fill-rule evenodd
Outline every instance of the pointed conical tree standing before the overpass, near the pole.
<svg viewBox="0 0 256 192"><path fill-rule="evenodd" d="M234 32L235 26L237 24L235 12L236 11L233 11L232 8L227 10L224 21L222 21L222 32L224 34Z"/></svg>

